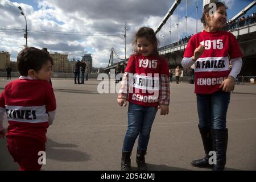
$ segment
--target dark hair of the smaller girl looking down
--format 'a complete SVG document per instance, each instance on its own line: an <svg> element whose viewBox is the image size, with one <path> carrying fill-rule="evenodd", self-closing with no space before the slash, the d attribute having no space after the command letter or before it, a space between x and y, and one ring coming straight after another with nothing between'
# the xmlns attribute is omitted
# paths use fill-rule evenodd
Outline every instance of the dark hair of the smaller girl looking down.
<svg viewBox="0 0 256 182"><path fill-rule="evenodd" d="M139 30L136 32L134 39L133 39L133 46L135 47L137 45L137 39L138 38L143 38L145 37L149 42L153 44L155 47L154 54L159 55L158 53L158 39L156 38L155 32L152 28L150 27L141 27ZM137 52L137 49L135 49L135 52Z"/></svg>

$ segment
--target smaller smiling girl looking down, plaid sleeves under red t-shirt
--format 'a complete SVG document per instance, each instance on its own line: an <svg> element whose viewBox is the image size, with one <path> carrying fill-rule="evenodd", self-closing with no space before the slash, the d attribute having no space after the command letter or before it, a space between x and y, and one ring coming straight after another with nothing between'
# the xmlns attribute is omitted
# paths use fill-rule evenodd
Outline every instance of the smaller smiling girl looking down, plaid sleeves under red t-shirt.
<svg viewBox="0 0 256 182"><path fill-rule="evenodd" d="M158 54L158 40L152 28L142 27L134 36L134 55L130 56L118 104L128 109L128 128L123 140L121 170L130 170L130 155L138 139L136 162L139 170L146 170L146 155L152 123L158 109L161 115L169 113L170 88L167 60Z"/></svg>

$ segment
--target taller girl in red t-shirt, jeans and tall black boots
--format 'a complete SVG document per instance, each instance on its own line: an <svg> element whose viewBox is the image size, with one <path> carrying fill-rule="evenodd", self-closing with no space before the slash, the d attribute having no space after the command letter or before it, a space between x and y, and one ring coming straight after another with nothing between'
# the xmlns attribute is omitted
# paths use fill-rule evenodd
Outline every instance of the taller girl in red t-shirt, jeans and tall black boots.
<svg viewBox="0 0 256 182"><path fill-rule="evenodd" d="M215 11L212 9L216 7ZM226 23L227 7L221 3L204 6L201 22L204 31L193 35L184 52L182 66L195 64L195 93L199 115L199 131L205 158L193 160L192 166L224 170L228 146L226 113L230 91L242 67L242 53L236 37L221 28ZM213 11L212 11L213 10ZM232 69L229 63L232 63ZM216 152L216 163L209 164L209 152Z"/></svg>

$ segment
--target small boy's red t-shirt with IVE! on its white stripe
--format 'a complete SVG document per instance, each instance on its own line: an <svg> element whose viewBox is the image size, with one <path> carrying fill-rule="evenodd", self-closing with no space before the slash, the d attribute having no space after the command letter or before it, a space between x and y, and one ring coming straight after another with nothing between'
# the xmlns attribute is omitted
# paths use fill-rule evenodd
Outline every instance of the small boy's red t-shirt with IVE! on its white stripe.
<svg viewBox="0 0 256 182"><path fill-rule="evenodd" d="M0 107L6 109L7 137L28 137L46 142L48 111L56 110L51 84L43 80L17 79L0 94Z"/></svg>

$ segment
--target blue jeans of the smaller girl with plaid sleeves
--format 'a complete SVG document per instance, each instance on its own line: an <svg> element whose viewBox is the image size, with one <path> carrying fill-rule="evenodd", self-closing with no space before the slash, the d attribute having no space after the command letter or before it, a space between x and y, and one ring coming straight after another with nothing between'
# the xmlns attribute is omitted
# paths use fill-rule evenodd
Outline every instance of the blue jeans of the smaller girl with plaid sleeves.
<svg viewBox="0 0 256 182"><path fill-rule="evenodd" d="M144 107L129 102L128 129L123 140L123 152L133 150L138 135L138 150L147 150L151 127L157 111L157 107Z"/></svg>

